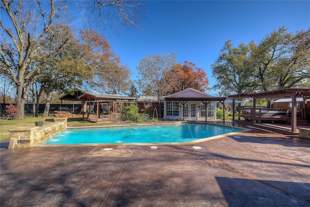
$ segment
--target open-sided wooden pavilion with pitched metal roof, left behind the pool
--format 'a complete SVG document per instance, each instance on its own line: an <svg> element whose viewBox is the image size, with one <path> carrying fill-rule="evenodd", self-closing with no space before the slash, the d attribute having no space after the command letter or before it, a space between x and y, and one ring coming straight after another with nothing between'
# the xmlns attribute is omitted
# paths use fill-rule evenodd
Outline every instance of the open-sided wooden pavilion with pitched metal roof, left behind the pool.
<svg viewBox="0 0 310 207"><path fill-rule="evenodd" d="M82 114L84 119L84 113L87 113L87 119L89 121L98 122L100 118L100 105L109 103L112 104L112 110L110 111L110 121L118 117L117 104L131 104L136 102L135 97L114 95L114 94L100 94L96 91L78 90L74 95L63 95L60 100L74 100L80 101L83 105ZM87 107L88 106L88 107Z"/></svg>

